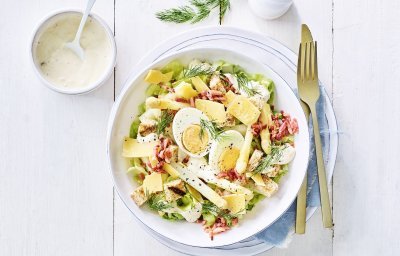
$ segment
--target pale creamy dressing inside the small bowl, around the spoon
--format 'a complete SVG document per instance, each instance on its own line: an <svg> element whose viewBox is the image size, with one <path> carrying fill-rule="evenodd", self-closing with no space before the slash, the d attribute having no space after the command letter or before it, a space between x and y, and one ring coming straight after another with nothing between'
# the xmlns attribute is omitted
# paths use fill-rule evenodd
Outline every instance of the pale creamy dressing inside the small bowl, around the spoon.
<svg viewBox="0 0 400 256"><path fill-rule="evenodd" d="M35 41L35 61L43 77L62 88L83 88L98 82L113 61L112 45L102 25L89 17L81 36L81 60L65 43L74 39L82 15L61 14L50 20Z"/></svg>

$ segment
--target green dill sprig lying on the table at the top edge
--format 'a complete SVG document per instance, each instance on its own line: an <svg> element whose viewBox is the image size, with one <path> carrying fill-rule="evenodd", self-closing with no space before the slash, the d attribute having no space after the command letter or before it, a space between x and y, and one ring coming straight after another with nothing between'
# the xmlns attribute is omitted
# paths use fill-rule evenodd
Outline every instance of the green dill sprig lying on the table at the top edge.
<svg viewBox="0 0 400 256"><path fill-rule="evenodd" d="M164 22L197 23L207 18L211 11L219 9L219 24L230 9L230 0L191 0L189 5L166 9L156 13L156 17Z"/></svg>

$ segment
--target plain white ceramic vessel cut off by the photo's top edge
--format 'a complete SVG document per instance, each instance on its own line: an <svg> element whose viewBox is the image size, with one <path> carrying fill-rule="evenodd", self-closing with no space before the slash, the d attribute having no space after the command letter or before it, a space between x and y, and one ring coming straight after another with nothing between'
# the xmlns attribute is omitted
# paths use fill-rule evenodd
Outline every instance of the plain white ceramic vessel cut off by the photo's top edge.
<svg viewBox="0 0 400 256"><path fill-rule="evenodd" d="M292 5L293 0L249 0L251 10L263 19L276 19Z"/></svg>

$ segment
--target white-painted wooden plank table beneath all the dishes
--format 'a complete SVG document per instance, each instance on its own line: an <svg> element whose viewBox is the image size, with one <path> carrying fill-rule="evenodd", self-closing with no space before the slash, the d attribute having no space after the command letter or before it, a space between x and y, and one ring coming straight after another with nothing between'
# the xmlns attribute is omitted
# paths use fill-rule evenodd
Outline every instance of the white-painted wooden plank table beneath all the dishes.
<svg viewBox="0 0 400 256"><path fill-rule="evenodd" d="M184 1L98 0L118 60L106 85L84 96L42 86L29 63L34 25L84 1L4 1L0 8L0 255L179 255L152 239L116 195L106 165L106 123L131 68L164 39L156 10ZM276 38L293 50L300 24L319 43L320 79L341 131L332 188L334 230L319 211L307 234L264 255L399 255L400 2L295 1L274 21L232 0L224 24ZM211 18L196 26L216 24Z"/></svg>

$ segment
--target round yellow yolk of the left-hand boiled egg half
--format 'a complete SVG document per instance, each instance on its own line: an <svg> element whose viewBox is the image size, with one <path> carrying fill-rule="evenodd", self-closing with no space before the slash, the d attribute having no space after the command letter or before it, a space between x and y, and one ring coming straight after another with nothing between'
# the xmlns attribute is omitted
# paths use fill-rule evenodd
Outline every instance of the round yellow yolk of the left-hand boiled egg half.
<svg viewBox="0 0 400 256"><path fill-rule="evenodd" d="M201 134L201 127L196 124L189 125L182 135L183 146L193 154L203 152L207 148L208 141L208 134L206 132Z"/></svg>

